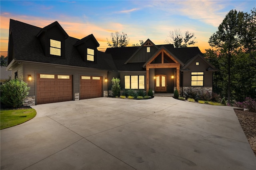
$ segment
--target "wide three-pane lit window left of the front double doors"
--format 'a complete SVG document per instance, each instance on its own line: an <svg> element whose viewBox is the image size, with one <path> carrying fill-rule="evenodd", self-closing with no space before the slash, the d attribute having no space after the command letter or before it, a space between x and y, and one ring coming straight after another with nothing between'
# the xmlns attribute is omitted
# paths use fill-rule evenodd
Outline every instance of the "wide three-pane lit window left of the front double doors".
<svg viewBox="0 0 256 170"><path fill-rule="evenodd" d="M125 75L124 89L145 89L144 75Z"/></svg>

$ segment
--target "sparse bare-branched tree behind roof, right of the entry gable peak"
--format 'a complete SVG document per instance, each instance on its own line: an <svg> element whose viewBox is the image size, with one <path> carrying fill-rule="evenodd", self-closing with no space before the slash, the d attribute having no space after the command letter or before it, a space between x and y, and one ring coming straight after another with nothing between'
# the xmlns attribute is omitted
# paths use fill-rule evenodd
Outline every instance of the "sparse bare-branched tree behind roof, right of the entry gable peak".
<svg viewBox="0 0 256 170"><path fill-rule="evenodd" d="M174 44L174 47L179 48L179 47L188 47L188 45L194 45L196 37L194 35L194 33L189 33L188 31L185 32L185 37L182 37L182 33L179 30L174 30L174 31L170 31L168 37L170 37L170 39L166 39L166 42L171 44ZM184 42L182 44L182 42Z"/></svg>

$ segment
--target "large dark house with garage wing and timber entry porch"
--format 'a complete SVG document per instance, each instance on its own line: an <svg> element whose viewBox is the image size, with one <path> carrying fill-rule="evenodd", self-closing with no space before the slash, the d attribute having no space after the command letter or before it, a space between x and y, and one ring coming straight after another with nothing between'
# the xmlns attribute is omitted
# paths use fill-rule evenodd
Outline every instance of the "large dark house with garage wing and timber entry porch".
<svg viewBox="0 0 256 170"><path fill-rule="evenodd" d="M151 40L140 47L97 50L90 34L68 36L58 22L39 28L10 20L8 66L31 87L24 105L107 97L112 77L122 89L173 93L195 87L212 91L212 71L198 47L174 48Z"/></svg>

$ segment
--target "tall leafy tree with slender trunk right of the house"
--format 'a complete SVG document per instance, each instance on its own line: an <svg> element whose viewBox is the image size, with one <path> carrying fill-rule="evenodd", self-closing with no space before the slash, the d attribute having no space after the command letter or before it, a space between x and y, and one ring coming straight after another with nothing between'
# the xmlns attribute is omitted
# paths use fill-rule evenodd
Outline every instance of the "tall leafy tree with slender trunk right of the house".
<svg viewBox="0 0 256 170"><path fill-rule="evenodd" d="M236 49L239 47L238 43L238 13L236 10L228 12L220 26L209 40L209 44L212 47L216 47L224 57L227 57L228 61L228 103L230 103L230 84L231 84L231 57L235 54Z"/></svg>

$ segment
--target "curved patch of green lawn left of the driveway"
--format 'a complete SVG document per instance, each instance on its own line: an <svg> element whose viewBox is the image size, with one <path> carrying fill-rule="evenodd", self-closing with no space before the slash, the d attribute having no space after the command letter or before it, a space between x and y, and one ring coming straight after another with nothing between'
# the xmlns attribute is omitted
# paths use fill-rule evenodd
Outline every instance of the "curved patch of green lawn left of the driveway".
<svg viewBox="0 0 256 170"><path fill-rule="evenodd" d="M1 129L20 125L36 116L35 109L16 109L0 111Z"/></svg>

